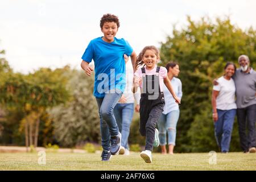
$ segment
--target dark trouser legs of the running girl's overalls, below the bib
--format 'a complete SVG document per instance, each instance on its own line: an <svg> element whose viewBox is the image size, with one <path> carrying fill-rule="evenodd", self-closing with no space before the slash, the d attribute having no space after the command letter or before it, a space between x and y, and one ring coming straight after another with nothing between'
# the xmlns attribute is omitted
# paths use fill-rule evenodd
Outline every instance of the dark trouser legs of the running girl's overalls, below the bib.
<svg viewBox="0 0 256 182"><path fill-rule="evenodd" d="M140 123L139 131L143 137L146 137L145 150L153 150L155 140L155 127L164 107L164 95L160 92L156 100L149 100L148 94L141 94L139 102Z"/></svg>

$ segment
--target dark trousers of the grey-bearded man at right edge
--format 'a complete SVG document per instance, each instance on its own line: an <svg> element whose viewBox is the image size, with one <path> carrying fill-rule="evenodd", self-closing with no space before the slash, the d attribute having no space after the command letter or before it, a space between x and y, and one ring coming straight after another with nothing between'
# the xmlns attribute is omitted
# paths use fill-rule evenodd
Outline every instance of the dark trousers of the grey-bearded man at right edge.
<svg viewBox="0 0 256 182"><path fill-rule="evenodd" d="M237 121L240 136L240 144L244 152L249 148L255 147L255 121L256 121L256 104L247 106L243 109L237 109ZM246 135L246 124L248 135Z"/></svg>

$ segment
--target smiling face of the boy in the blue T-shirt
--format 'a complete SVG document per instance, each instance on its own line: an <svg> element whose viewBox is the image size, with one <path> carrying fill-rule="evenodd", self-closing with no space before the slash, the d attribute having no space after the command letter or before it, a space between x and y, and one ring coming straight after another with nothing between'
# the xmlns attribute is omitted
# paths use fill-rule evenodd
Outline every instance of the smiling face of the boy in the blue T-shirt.
<svg viewBox="0 0 256 182"><path fill-rule="evenodd" d="M118 28L115 22L105 22L101 28L104 34L103 40L105 42L113 42L115 34L117 34Z"/></svg>

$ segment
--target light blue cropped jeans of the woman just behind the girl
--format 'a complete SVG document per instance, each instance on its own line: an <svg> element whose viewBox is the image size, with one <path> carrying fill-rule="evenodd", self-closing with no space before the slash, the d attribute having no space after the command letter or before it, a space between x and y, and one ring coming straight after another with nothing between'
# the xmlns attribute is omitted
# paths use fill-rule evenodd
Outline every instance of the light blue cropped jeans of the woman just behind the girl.
<svg viewBox="0 0 256 182"><path fill-rule="evenodd" d="M170 113L163 114L160 116L158 121L159 129L159 141L160 146L165 146L166 142L166 133L168 132L168 145L172 144L175 146L176 140L176 126L179 119L180 110L173 110Z"/></svg>

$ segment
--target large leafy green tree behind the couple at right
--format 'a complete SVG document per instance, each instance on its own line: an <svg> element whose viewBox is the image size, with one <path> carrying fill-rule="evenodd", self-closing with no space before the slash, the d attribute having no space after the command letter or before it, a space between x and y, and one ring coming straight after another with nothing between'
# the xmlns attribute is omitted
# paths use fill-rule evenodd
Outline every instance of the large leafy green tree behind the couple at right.
<svg viewBox="0 0 256 182"><path fill-rule="evenodd" d="M203 137L198 137L210 137L215 142L210 105L212 80L221 76L226 62L237 64L242 54L248 55L250 60L256 58L253 28L243 31L231 24L229 17L216 18L214 22L209 18L194 22L189 16L187 20L188 26L181 30L174 27L172 35L160 47L162 65L176 60L181 69L183 98L176 139L176 150L180 152L203 151L204 144L207 148L216 147L208 143L209 139L204 142ZM255 67L252 61L251 65Z"/></svg>

